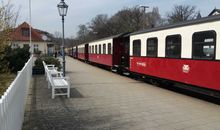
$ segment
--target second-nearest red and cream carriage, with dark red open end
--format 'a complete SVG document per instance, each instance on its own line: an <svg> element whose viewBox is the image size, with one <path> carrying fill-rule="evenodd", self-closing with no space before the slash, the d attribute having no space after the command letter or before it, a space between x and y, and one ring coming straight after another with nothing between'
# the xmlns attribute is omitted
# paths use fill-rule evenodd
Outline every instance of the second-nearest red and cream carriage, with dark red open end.
<svg viewBox="0 0 220 130"><path fill-rule="evenodd" d="M108 68L120 66L121 57L125 55L123 36L124 34L120 34L90 42L89 61Z"/></svg>

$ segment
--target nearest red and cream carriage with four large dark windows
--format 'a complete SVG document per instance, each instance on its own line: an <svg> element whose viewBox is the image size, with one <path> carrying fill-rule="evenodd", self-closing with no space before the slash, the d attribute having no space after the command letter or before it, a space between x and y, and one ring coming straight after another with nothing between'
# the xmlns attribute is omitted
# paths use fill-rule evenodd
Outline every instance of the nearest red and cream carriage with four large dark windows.
<svg viewBox="0 0 220 130"><path fill-rule="evenodd" d="M136 32L130 71L220 91L220 17Z"/></svg>

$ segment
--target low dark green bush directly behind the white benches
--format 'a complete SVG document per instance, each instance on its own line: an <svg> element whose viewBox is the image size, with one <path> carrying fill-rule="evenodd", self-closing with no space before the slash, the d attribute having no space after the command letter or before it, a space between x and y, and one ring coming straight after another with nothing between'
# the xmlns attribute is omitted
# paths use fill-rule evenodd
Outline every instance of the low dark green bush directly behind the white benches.
<svg viewBox="0 0 220 130"><path fill-rule="evenodd" d="M44 66L43 61L46 64L53 64L58 70L61 69L60 61L52 56L43 56L39 57L35 61L35 66L33 67L33 74L43 74L44 73Z"/></svg>

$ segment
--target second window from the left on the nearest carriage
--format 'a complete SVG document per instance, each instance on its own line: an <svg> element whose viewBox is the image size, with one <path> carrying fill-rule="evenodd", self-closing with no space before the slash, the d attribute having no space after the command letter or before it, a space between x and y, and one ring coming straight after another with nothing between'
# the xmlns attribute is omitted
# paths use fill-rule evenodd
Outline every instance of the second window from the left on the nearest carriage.
<svg viewBox="0 0 220 130"><path fill-rule="evenodd" d="M147 39L147 56L157 57L158 40L157 38Z"/></svg>

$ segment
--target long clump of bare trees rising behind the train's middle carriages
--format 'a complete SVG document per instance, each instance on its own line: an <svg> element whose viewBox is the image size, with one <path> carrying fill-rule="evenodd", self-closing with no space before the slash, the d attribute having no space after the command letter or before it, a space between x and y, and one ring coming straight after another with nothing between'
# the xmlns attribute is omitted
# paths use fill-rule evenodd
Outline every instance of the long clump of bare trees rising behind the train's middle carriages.
<svg viewBox="0 0 220 130"><path fill-rule="evenodd" d="M159 9L153 8L152 12L143 13L139 6L124 8L108 18L106 14L99 14L90 23L79 25L75 42L82 43L108 37L120 33L134 32L157 26L161 23Z"/></svg>

